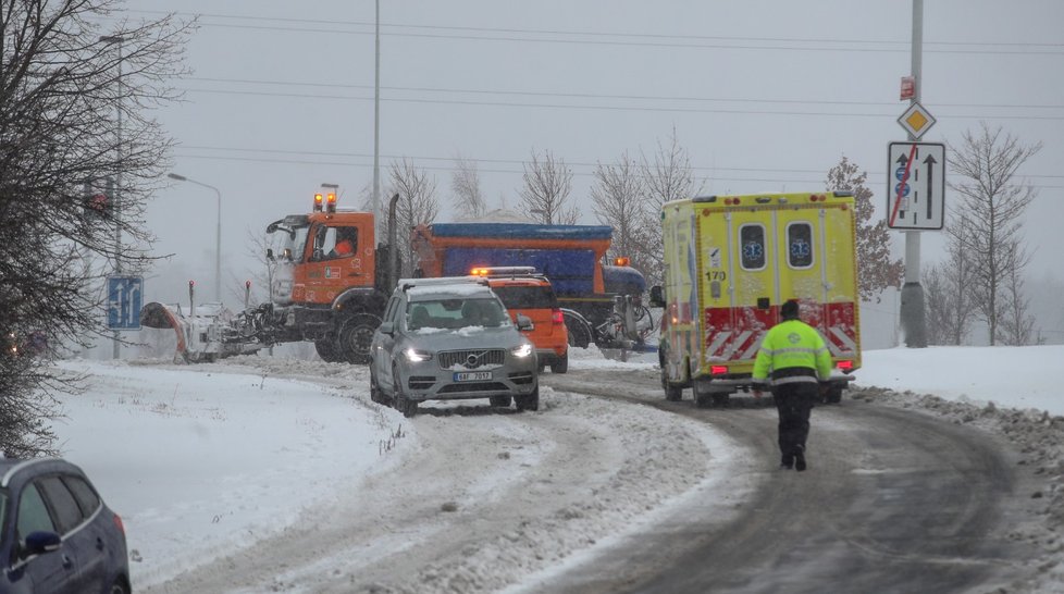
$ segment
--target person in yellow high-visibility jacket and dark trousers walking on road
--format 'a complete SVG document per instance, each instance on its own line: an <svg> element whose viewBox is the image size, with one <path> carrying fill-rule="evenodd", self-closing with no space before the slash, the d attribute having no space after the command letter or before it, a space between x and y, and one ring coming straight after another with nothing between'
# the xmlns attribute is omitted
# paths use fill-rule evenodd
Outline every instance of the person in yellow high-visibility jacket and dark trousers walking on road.
<svg viewBox="0 0 1064 594"><path fill-rule="evenodd" d="M820 393L820 382L831 376L831 354L813 326L799 319L797 301L780 308L783 319L765 334L754 360L754 397L760 386L771 385L779 411L780 468L805 470L805 441L809 412Z"/></svg>

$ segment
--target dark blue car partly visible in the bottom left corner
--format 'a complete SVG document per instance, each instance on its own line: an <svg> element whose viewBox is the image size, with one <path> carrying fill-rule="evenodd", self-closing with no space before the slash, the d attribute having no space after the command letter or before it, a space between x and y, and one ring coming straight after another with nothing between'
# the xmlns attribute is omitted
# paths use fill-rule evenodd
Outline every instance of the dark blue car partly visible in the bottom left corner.
<svg viewBox="0 0 1064 594"><path fill-rule="evenodd" d="M129 592L122 519L81 468L0 458L0 593Z"/></svg>

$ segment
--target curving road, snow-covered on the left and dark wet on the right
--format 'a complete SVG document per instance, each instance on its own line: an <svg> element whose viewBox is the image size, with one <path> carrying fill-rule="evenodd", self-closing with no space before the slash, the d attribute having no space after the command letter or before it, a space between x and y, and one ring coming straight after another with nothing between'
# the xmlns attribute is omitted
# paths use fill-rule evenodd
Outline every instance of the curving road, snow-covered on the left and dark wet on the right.
<svg viewBox="0 0 1064 594"><path fill-rule="evenodd" d="M666 403L646 369L542 378L539 412L429 405L391 469L140 590L981 592L1036 571L1038 487L989 433L848 398L787 473L767 403Z"/></svg>

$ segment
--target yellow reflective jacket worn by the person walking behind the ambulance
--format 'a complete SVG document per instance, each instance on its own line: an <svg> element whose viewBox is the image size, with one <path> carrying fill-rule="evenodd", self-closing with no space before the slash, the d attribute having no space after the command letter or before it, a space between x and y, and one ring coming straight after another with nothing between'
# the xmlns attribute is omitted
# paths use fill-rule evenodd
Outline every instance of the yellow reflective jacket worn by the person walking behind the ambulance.
<svg viewBox="0 0 1064 594"><path fill-rule="evenodd" d="M801 373L801 369L809 373ZM777 373L793 369L797 373ZM820 333L801 320L787 320L772 326L765 334L762 347L754 360L754 381L764 382L774 376L774 384L816 382L831 376L831 352Z"/></svg>

